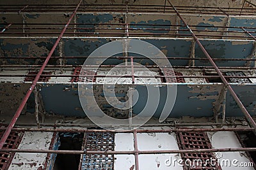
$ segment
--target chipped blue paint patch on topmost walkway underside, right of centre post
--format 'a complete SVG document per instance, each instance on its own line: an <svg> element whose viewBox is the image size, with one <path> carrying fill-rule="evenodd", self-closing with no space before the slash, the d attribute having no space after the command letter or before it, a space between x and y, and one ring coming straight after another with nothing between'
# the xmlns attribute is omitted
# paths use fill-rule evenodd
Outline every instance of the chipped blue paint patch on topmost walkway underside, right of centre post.
<svg viewBox="0 0 256 170"><path fill-rule="evenodd" d="M131 22L131 24L147 24L145 25L130 25L132 29L143 29L143 32L152 32L152 33L168 33L169 31L159 31L159 30L147 30L148 29L170 29L170 26L160 26L156 24L162 24L162 25L170 25L170 20L147 20L147 21L140 21L140 22Z"/></svg>

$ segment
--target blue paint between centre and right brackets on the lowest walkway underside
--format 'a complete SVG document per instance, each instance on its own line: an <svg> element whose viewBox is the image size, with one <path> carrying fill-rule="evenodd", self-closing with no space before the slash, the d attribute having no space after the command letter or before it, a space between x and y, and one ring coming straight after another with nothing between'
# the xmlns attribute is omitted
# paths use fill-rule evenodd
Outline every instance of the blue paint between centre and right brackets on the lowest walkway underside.
<svg viewBox="0 0 256 170"><path fill-rule="evenodd" d="M212 117L212 102L215 101L214 99L200 100L196 98L198 97L198 94L191 93L191 89L186 84L177 85L177 88L177 98L172 113L169 115L169 117ZM141 110L143 110L147 102L147 87L143 85L137 85L135 89L138 90L140 97L138 102L133 107L133 112L138 114ZM161 97L159 106L157 107L156 113L154 114L154 117L157 118L160 116L166 101L166 86L163 85L159 89ZM215 96L216 94L218 94L218 92L212 92L206 95Z"/></svg>

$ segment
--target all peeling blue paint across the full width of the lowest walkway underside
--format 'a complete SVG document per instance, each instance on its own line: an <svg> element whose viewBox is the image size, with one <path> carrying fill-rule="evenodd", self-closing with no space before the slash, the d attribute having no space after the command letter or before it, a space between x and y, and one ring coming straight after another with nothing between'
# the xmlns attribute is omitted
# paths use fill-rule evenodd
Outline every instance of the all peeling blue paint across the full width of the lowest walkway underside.
<svg viewBox="0 0 256 170"><path fill-rule="evenodd" d="M132 85L139 92L138 102L133 107L134 114L140 113L143 110L147 102L147 87L145 85ZM177 85L177 99L175 101L175 106L173 107L172 114L169 117L212 117L212 103L218 99L219 91L211 90L211 92L205 92L205 94L200 94L193 90L194 87L205 87L205 89L211 89L212 85L209 84L178 84ZM215 85L216 87L218 85ZM68 87L68 90L63 90ZM222 87L222 85L220 85ZM75 85L76 88L76 85ZM156 87L158 88L158 87ZM256 115L256 88L255 84L252 85L232 85L232 88L237 93L239 99L249 111L251 115ZM166 85L159 87L160 89L160 101L157 107L154 117L159 117L161 111L163 110L164 103L166 101ZM219 89L219 88L216 88ZM72 85L61 85L52 84L46 87L42 86L40 91L45 104L45 110L47 113L54 113L56 115L63 115L65 117L85 117L83 110L76 110L76 108L81 108L79 97L77 96L77 90L72 90ZM119 94L117 94L119 96ZM124 94L121 95L121 97ZM206 97L206 98L204 98ZM207 98L209 97L209 98ZM213 98L212 98L213 97ZM157 101L156 101L157 102ZM110 106L104 103L104 108L108 109ZM236 102L227 93L226 100L226 115L227 117L243 116L243 113L237 106Z"/></svg>

